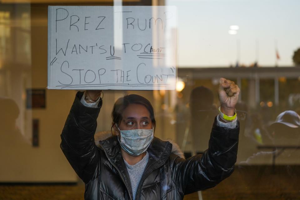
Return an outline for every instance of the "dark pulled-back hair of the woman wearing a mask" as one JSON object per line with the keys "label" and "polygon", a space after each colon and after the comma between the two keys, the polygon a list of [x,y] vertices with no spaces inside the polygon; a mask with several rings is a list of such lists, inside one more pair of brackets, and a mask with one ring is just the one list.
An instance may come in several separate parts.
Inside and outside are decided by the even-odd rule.
{"label": "dark pulled-back hair of the woman wearing a mask", "polygon": [[112,119],[113,119],[112,129],[113,129],[113,125],[115,124],[119,125],[121,123],[122,114],[124,110],[129,106],[129,104],[139,104],[147,108],[147,110],[150,113],[150,119],[153,125],[153,129],[155,131],[156,122],[154,118],[153,107],[151,103],[148,101],[148,99],[137,94],[129,94],[124,97],[118,98],[118,100],[113,106],[113,111],[112,111]]}

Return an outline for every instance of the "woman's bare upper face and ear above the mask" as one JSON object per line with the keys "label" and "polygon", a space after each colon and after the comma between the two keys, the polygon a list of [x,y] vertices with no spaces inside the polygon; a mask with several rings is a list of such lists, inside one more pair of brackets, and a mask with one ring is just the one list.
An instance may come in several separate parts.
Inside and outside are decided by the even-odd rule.
{"label": "woman's bare upper face and ear above the mask", "polygon": [[[140,104],[129,104],[123,112],[122,120],[118,127],[120,130],[153,128],[149,111]],[[116,126],[114,126],[114,130],[118,135],[119,131]]]}

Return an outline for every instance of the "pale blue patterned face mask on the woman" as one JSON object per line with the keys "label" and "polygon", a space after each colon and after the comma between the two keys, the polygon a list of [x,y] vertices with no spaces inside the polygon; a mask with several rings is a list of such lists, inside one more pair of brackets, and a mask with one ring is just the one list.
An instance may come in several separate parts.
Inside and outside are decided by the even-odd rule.
{"label": "pale blue patterned face mask on the woman", "polygon": [[[118,125],[116,124],[119,129]],[[154,132],[152,129],[133,129],[120,130],[118,137],[121,148],[129,155],[138,156],[144,153],[153,140]]]}

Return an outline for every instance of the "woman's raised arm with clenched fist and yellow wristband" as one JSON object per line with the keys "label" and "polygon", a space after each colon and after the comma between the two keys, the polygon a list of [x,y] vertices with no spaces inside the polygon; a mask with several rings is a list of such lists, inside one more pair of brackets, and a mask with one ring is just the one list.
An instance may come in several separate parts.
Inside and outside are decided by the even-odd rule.
{"label": "woman's raised arm with clenched fist and yellow wristband", "polygon": [[239,134],[235,112],[239,92],[240,89],[234,82],[220,78],[220,114],[214,120],[208,149],[203,155],[187,160],[173,158],[174,162],[170,166],[173,180],[183,194],[214,187],[233,172]]}

